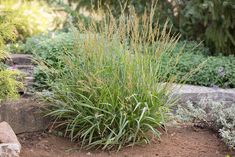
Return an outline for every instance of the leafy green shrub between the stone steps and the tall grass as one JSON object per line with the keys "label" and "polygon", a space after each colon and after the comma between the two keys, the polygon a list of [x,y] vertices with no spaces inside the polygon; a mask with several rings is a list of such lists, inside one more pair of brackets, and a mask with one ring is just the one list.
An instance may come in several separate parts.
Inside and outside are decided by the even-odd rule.
{"label": "leafy green shrub between the stone steps and the tall grass", "polygon": [[[62,69],[64,63],[63,54],[71,54],[74,49],[72,33],[52,32],[28,38],[24,44],[24,53],[33,54],[36,60],[42,61],[53,69]],[[49,87],[57,75],[56,71],[38,67],[34,71],[35,88],[45,89]]]}

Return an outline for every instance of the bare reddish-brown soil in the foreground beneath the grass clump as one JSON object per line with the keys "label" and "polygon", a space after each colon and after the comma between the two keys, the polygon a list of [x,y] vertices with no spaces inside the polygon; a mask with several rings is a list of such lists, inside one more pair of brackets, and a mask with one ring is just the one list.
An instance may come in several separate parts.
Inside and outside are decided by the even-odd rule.
{"label": "bare reddish-brown soil in the foreground beneath the grass clump", "polygon": [[207,129],[190,126],[168,128],[161,142],[124,148],[119,152],[79,151],[78,145],[53,135],[19,135],[21,157],[235,157],[217,135]]}

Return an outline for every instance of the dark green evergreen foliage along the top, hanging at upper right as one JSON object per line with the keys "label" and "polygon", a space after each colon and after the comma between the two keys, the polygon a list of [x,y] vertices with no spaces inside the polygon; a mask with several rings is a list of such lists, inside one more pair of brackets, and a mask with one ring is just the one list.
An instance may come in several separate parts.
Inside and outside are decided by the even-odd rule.
{"label": "dark green evergreen foliage along the top, hanging at upper right", "polygon": [[[151,10],[151,0],[69,0],[77,2],[77,10],[82,7],[111,11],[118,17],[122,11],[133,6],[139,15]],[[155,2],[155,1],[153,1]],[[126,7],[125,7],[126,6]],[[109,9],[107,9],[109,8]],[[235,1],[234,0],[158,0],[155,13],[164,26],[169,20],[169,29],[182,34],[186,40],[205,42],[211,54],[235,54]]]}

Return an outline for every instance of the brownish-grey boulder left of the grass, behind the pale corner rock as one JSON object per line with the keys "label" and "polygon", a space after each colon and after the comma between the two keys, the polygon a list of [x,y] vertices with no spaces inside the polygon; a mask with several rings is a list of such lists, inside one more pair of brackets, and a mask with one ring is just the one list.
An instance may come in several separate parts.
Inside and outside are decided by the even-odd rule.
{"label": "brownish-grey boulder left of the grass, behind the pale corner rock", "polygon": [[49,121],[41,114],[42,103],[32,98],[22,98],[0,104],[0,122],[8,122],[16,134],[40,131]]}

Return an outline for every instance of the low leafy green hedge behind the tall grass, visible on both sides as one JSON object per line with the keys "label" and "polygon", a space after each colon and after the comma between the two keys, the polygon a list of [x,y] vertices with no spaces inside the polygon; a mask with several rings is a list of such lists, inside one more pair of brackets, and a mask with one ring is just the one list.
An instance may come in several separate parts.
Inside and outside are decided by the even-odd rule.
{"label": "low leafy green hedge behind the tall grass, visible on both sides", "polygon": [[[186,80],[187,84],[218,86],[224,88],[235,88],[235,57],[233,56],[213,56],[208,57],[208,49],[195,42],[180,42],[174,50],[174,55],[180,52],[182,45],[185,45],[183,53],[180,55],[179,63],[173,69],[180,81],[190,71],[196,69],[205,62],[199,71]],[[61,55],[70,53],[74,48],[73,35],[71,33],[56,33],[54,35],[43,35],[29,38],[26,42],[27,52],[33,52],[35,56],[44,60],[49,66],[61,68]],[[163,58],[165,65],[168,58]],[[162,67],[164,73],[164,67]],[[52,72],[52,71],[51,71]],[[36,79],[39,83],[44,82],[48,74],[37,71]],[[167,79],[167,78],[166,78]],[[45,83],[45,82],[44,82]]]}

